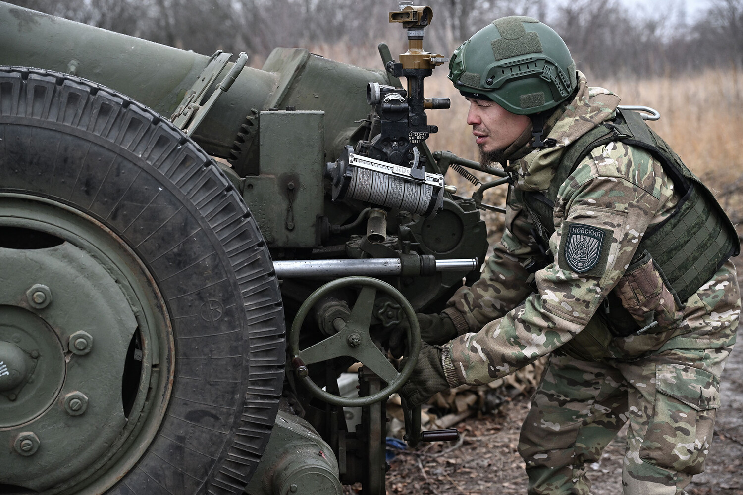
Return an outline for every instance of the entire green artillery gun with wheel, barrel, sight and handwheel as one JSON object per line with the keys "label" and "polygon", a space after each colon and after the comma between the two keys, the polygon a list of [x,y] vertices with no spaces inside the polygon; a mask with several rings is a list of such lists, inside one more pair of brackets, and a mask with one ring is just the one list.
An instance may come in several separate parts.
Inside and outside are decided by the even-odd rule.
{"label": "entire green artillery gun with wheel, barrel, sight and handwheel", "polygon": [[487,249],[444,181],[479,165],[425,142],[431,19],[383,70],[259,70],[0,3],[0,494],[385,493],[415,312]]}

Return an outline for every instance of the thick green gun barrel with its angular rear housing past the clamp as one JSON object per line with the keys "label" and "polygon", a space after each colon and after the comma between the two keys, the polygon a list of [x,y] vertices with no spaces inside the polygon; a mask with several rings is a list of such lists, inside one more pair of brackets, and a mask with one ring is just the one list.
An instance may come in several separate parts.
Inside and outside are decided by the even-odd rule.
{"label": "thick green gun barrel with its angular rear housing past the clamp", "polygon": [[[144,39],[49,16],[0,1],[0,65],[71,73],[108,86],[169,119],[207,68],[210,57]],[[232,62],[225,71],[230,71]],[[227,72],[225,72],[226,74]],[[389,83],[372,71],[311,55],[302,48],[276,48],[262,69],[244,67],[195,130],[204,151],[222,158],[252,110],[293,107],[324,111],[328,159],[369,113],[368,82]],[[216,91],[219,77],[209,94]],[[209,97],[207,94],[207,98]],[[342,96],[341,96],[342,95]],[[256,140],[257,141],[257,140]]]}

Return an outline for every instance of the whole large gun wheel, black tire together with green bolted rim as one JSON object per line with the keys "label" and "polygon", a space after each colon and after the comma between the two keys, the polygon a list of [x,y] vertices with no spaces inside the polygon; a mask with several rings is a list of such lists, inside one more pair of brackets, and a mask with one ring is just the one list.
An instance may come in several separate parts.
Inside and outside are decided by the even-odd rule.
{"label": "whole large gun wheel, black tire together with green bolted rim", "polygon": [[204,151],[82,79],[0,68],[0,493],[241,494],[284,321]]}

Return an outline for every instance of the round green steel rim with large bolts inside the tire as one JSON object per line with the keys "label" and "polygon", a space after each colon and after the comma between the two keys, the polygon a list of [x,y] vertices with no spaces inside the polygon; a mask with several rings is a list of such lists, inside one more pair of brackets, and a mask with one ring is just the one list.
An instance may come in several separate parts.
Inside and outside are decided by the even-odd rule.
{"label": "round green steel rim with large bolts inside the tire", "polygon": [[169,401],[174,343],[157,284],[102,223],[24,194],[0,195],[0,281],[0,439],[13,445],[0,482],[102,494]]}

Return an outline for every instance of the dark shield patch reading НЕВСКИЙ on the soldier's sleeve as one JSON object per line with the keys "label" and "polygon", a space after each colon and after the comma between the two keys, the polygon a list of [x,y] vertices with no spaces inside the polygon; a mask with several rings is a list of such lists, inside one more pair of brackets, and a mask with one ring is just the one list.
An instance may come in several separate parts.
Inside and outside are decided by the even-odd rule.
{"label": "dark shield patch reading \u041d\u0415\u0412\u0421\u041a\u0418\u0419 on the soldier's sleeve", "polygon": [[[599,275],[606,268],[611,246],[611,231],[584,223],[565,222],[559,246],[559,264],[577,273],[593,269]],[[566,228],[565,228],[566,227]]]}

